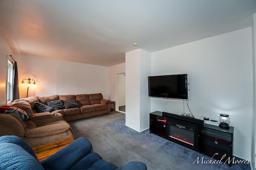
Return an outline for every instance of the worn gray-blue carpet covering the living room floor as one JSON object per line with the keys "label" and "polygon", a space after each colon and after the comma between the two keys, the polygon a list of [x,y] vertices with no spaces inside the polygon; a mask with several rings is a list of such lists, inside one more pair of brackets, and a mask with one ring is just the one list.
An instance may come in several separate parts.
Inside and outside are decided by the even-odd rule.
{"label": "worn gray-blue carpet covering the living room floor", "polygon": [[137,132],[125,126],[125,114],[117,111],[68,123],[74,139],[86,137],[92,143],[93,152],[118,168],[131,161],[141,161],[148,170],[250,170],[250,164],[233,164],[231,167],[223,163],[197,164],[198,157],[211,158],[150,134],[149,130]]}

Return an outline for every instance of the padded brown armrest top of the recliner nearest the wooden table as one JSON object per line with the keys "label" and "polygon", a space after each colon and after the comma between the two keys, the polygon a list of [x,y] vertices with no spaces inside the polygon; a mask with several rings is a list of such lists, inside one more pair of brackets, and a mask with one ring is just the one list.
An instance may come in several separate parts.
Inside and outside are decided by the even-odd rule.
{"label": "padded brown armrest top of the recliner nearest the wooden table", "polygon": [[26,131],[25,137],[36,138],[36,137],[45,137],[50,135],[59,134],[70,129],[68,123],[56,123],[52,125],[46,125],[41,127],[36,127]]}

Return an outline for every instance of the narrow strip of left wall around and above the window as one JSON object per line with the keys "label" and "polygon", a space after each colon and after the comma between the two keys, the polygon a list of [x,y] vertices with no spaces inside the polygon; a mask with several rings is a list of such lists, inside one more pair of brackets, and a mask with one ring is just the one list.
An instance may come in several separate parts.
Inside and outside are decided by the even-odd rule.
{"label": "narrow strip of left wall around and above the window", "polygon": [[6,105],[7,55],[14,57],[11,47],[0,32],[0,106]]}

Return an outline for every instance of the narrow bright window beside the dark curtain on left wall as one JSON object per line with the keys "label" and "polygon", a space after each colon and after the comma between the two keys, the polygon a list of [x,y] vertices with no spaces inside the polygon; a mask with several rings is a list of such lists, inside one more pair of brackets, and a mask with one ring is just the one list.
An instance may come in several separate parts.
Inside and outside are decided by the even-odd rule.
{"label": "narrow bright window beside the dark curtain on left wall", "polygon": [[13,89],[13,63],[8,60],[7,76],[6,76],[6,99],[7,104],[12,102],[12,89]]}

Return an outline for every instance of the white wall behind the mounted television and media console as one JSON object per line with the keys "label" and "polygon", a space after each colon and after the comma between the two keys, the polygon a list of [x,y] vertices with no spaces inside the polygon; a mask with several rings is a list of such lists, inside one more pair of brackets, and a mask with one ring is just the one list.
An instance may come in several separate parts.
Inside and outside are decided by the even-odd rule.
{"label": "white wall behind the mounted television and media console", "polygon": [[[251,159],[252,28],[202,39],[152,53],[152,75],[188,73],[188,105],[196,118],[230,115],[234,155]],[[151,111],[166,111],[166,99],[151,99]],[[186,105],[185,105],[186,106]],[[180,115],[182,100],[166,109]],[[186,107],[185,112],[188,113]]]}

